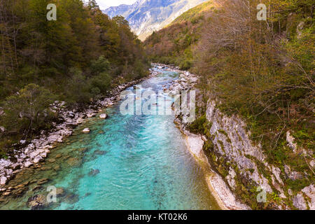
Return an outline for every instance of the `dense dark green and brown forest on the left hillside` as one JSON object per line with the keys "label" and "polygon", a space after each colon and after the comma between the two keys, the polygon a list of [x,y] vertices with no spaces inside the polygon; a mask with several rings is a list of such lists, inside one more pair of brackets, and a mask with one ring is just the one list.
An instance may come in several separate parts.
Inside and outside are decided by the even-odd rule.
{"label": "dense dark green and brown forest on the left hillside", "polygon": [[[55,21],[46,18],[49,3]],[[1,0],[0,21],[0,157],[50,128],[52,102],[85,106],[148,74],[128,22],[109,18],[94,0]]]}

